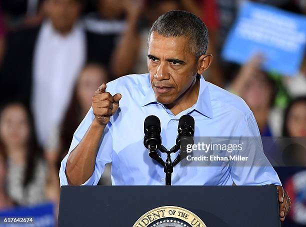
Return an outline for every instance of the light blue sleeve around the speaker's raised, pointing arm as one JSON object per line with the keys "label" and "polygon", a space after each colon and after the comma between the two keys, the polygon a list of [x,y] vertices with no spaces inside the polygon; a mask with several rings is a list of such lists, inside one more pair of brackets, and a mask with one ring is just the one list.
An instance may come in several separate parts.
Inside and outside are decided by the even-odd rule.
{"label": "light blue sleeve around the speaker's raised, pointing arm", "polygon": [[[77,144],[81,141],[82,137],[86,133],[93,119],[94,119],[94,114],[91,107],[87,112],[86,116],[84,117],[84,119],[82,120],[82,122],[77,127],[76,131],[74,132],[69,151],[61,161],[59,169],[60,186],[68,185],[68,180],[65,174],[68,156],[71,153],[71,151],[77,146]],[[105,164],[111,162],[111,152],[112,152],[112,132],[111,132],[111,122],[109,121],[103,131],[103,135],[101,136],[98,145],[94,171],[92,175],[89,177],[89,179],[87,179],[86,182],[84,182],[81,185],[96,185],[98,183],[101,174],[103,173]]]}

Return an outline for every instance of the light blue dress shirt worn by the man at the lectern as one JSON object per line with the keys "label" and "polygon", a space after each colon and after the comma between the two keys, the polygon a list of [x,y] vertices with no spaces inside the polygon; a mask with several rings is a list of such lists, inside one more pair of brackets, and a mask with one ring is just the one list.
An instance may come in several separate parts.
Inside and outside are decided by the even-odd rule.
{"label": "light blue dress shirt worn by the man at the lectern", "polygon": [[[112,162],[112,185],[164,185],[163,167],[148,156],[143,145],[143,122],[156,115],[161,123],[162,144],[175,144],[179,118],[190,114],[195,120],[194,136],[260,136],[255,118],[238,96],[200,77],[199,94],[190,108],[173,115],[158,103],[149,74],[132,74],[107,83],[106,91],[121,93],[119,109],[110,118],[101,137],[95,169],[83,185],[96,185],[104,165]],[[71,150],[80,142],[94,115],[92,107],[76,129],[68,154],[61,162],[60,185],[67,185],[65,167]],[[262,147],[262,146],[261,146]],[[258,158],[263,155],[258,150]],[[172,153],[172,160],[177,153]],[[166,154],[161,157],[165,160]],[[254,157],[256,158],[256,156]],[[181,166],[173,168],[172,185],[281,185],[272,166]]]}

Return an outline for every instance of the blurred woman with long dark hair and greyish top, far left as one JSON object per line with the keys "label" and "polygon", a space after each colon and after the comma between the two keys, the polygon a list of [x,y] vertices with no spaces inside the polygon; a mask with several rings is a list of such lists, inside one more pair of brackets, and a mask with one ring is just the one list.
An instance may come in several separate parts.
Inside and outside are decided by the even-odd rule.
{"label": "blurred woman with long dark hair and greyish top, far left", "polygon": [[46,199],[46,165],[38,147],[29,110],[12,102],[0,112],[0,141],[7,154],[7,192],[18,204]]}

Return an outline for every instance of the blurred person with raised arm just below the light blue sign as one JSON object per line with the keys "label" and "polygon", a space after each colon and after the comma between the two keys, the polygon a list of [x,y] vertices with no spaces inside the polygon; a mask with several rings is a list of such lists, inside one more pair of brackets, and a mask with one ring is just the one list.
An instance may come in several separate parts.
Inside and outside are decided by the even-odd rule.
{"label": "blurred person with raised arm just below the light blue sign", "polygon": [[271,136],[270,110],[276,94],[273,80],[260,69],[262,56],[253,56],[242,65],[229,90],[244,99],[252,110],[261,136]]}

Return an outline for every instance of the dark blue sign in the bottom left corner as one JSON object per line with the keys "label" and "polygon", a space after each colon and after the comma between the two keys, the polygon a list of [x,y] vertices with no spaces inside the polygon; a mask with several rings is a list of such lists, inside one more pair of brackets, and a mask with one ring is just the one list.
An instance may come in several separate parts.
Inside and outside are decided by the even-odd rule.
{"label": "dark blue sign in the bottom left corner", "polygon": [[[14,220],[12,217],[16,217],[16,219]],[[53,203],[47,202],[34,206],[19,206],[0,211],[0,227],[13,226],[54,227],[55,216]]]}

